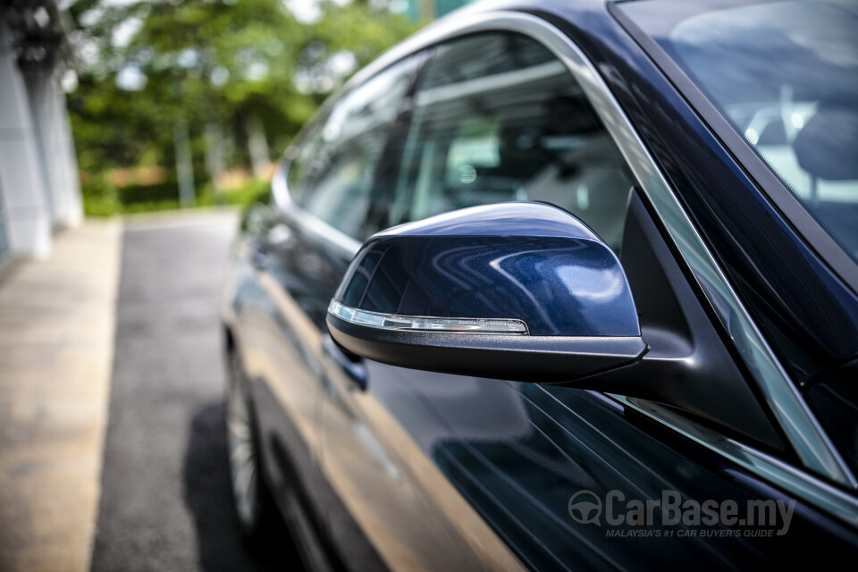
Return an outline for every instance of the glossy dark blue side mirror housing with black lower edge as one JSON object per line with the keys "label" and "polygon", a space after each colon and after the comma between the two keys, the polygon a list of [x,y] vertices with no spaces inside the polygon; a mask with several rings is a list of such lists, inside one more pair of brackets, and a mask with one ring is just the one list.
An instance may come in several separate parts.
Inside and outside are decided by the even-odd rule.
{"label": "glossy dark blue side mirror housing with black lower edge", "polygon": [[327,316],[344,349],[392,366],[566,383],[646,352],[617,256],[543,203],[475,206],[382,231]]}

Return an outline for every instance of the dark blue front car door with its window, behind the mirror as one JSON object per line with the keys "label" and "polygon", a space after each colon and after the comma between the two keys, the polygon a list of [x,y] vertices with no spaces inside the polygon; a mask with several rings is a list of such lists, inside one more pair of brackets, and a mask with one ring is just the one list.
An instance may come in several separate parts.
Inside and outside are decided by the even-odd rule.
{"label": "dark blue front car door with its window, behind the mirror", "polygon": [[854,545],[795,495],[824,486],[790,467],[666,232],[687,217],[676,201],[654,206],[670,191],[592,66],[529,16],[451,28],[421,72],[395,182],[379,189],[388,223],[509,200],[576,214],[618,253],[653,355],[686,365],[627,381],[673,375],[682,407],[408,370],[328,344],[323,472],[383,564],[777,568],[805,543]]}

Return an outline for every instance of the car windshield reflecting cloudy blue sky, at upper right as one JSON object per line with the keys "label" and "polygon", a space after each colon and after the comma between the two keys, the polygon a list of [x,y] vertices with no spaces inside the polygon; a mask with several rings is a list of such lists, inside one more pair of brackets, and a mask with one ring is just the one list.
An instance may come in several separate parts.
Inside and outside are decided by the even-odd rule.
{"label": "car windshield reflecting cloudy blue sky, at upper right", "polygon": [[653,38],[858,260],[858,3],[689,4]]}

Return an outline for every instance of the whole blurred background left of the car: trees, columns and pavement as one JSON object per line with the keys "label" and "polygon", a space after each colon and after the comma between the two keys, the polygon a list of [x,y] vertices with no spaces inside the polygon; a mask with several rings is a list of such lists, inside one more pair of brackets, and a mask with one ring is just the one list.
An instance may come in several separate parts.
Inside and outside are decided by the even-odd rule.
{"label": "whole blurred background left of the car: trees, columns and pavement", "polygon": [[462,4],[0,1],[0,572],[300,568],[231,512],[237,213],[326,97]]}

